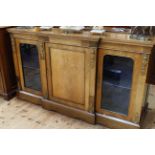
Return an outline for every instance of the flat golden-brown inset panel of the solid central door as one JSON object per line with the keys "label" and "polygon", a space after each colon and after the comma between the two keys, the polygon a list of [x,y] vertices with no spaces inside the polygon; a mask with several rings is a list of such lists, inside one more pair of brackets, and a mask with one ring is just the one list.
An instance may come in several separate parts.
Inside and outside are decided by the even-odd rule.
{"label": "flat golden-brown inset panel of the solid central door", "polygon": [[84,104],[84,53],[50,49],[53,96]]}

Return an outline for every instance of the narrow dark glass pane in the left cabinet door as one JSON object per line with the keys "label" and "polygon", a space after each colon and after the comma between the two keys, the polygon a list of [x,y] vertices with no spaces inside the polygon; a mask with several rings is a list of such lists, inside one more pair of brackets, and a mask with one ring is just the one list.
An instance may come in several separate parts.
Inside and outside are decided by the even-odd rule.
{"label": "narrow dark glass pane in the left cabinet door", "polygon": [[38,49],[36,45],[20,44],[25,87],[41,90]]}

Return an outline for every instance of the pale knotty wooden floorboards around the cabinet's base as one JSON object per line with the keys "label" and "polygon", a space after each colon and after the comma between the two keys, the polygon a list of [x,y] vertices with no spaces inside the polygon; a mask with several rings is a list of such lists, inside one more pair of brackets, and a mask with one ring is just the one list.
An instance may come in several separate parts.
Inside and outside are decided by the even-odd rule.
{"label": "pale knotty wooden floorboards around the cabinet's base", "polygon": [[[155,129],[155,110],[148,110],[143,128]],[[104,126],[88,124],[18,98],[5,101],[0,97],[1,129],[105,129]]]}

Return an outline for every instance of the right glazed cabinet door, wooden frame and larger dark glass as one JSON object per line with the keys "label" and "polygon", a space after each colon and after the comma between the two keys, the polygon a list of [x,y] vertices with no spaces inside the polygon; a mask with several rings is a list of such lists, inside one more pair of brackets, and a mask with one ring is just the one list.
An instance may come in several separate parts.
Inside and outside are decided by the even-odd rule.
{"label": "right glazed cabinet door, wooden frame and larger dark glass", "polygon": [[96,112],[134,120],[141,56],[99,50]]}

